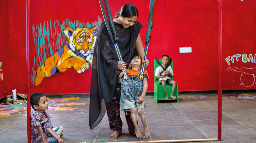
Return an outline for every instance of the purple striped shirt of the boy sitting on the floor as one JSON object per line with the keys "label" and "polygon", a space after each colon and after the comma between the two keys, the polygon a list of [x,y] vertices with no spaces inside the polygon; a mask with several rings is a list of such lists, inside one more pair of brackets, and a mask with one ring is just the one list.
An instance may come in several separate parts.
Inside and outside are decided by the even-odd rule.
{"label": "purple striped shirt of the boy sitting on the floor", "polygon": [[[51,136],[51,135],[49,133],[48,128],[53,128],[53,126],[52,126],[52,122],[50,120],[50,115],[46,111],[44,111],[44,114],[45,114],[45,120],[43,120],[43,114],[41,112],[39,112],[38,110],[32,110],[30,112],[31,142],[32,143],[43,143],[40,133],[37,129],[37,126],[41,126],[43,128],[45,139],[47,140],[48,143],[50,142],[49,136]],[[42,123],[44,123],[44,125]]]}

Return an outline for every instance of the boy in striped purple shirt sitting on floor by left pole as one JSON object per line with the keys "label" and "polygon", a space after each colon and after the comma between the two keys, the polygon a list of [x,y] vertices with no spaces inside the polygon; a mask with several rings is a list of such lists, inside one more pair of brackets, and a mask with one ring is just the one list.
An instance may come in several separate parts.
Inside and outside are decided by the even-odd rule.
{"label": "boy in striped purple shirt sitting on floor by left pole", "polygon": [[48,110],[48,101],[44,93],[33,93],[30,98],[31,106],[31,142],[32,143],[65,143],[61,139],[63,127],[53,128]]}

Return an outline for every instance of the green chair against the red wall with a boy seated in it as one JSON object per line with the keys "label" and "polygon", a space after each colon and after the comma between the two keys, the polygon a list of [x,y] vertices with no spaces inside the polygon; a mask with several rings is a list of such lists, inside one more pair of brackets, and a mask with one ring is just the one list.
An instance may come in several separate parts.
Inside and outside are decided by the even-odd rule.
{"label": "green chair against the red wall with a boy seated in it", "polygon": [[[173,60],[172,60],[173,61]],[[161,62],[161,59],[159,59],[159,62]],[[154,60],[154,75],[156,74],[156,68],[159,67],[160,65],[157,63],[156,59]],[[172,62],[170,64],[171,68],[172,68]],[[172,68],[173,69],[173,68]],[[163,86],[159,84],[159,79],[156,81],[156,76],[154,78],[155,83],[154,83],[154,100],[156,101],[156,103],[158,102],[164,102],[164,101],[177,101],[177,103],[179,102],[179,92],[178,92],[178,85],[176,86],[173,96],[176,96],[176,99],[170,99],[170,94],[172,93],[172,85],[166,85],[166,92],[168,94],[168,98],[169,99],[164,99],[165,98],[165,93],[164,93],[164,89]]]}

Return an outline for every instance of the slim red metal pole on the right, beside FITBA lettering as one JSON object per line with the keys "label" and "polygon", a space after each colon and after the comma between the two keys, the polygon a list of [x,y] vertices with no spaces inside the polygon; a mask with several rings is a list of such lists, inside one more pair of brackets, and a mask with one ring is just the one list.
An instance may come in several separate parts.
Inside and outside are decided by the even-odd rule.
{"label": "slim red metal pole on the right, beside FITBA lettering", "polygon": [[222,100],[222,0],[219,0],[219,88],[218,88],[218,140],[221,141],[221,100]]}

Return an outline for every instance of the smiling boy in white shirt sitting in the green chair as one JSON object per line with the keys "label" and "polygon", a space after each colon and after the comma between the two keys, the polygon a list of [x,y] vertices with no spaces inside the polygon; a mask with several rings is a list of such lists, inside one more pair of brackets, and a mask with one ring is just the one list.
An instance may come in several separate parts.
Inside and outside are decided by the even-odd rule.
{"label": "smiling boy in white shirt sitting in the green chair", "polygon": [[[162,59],[161,59],[161,62],[162,62],[162,65],[165,68],[167,66],[167,64],[169,63],[169,56],[168,55],[163,55]],[[173,77],[172,68],[171,68],[171,66],[169,66],[169,67],[167,67],[166,71],[163,71],[163,70],[164,69],[161,66],[157,67],[155,76],[156,76],[156,78],[159,78],[159,84],[163,85],[164,93],[165,93],[165,98],[164,99],[168,99],[168,95],[166,93],[166,84],[167,85],[172,85],[172,93],[170,95],[170,98],[176,99],[176,97],[172,95],[174,93],[174,90],[175,90],[176,85],[177,85],[176,81],[172,80],[172,77]]]}

